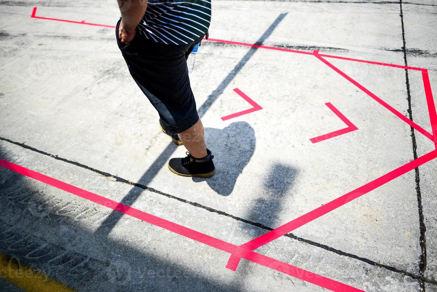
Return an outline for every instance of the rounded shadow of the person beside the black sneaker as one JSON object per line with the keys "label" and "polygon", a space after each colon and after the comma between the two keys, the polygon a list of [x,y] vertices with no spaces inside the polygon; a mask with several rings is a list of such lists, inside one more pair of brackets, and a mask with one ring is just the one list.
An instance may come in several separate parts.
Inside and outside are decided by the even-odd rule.
{"label": "rounded shadow of the person beside the black sneaker", "polygon": [[230,195],[255,151],[255,131],[246,122],[233,122],[225,129],[205,128],[205,141],[215,154],[217,171],[211,178],[193,177],[193,181],[206,181],[217,194]]}

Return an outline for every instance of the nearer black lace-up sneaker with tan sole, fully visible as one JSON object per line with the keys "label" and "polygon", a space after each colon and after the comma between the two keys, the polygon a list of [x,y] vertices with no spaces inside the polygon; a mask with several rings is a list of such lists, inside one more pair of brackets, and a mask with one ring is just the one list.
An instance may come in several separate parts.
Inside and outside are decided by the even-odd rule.
{"label": "nearer black lace-up sneaker with tan sole, fully visible", "polygon": [[208,156],[205,158],[194,158],[189,152],[187,157],[172,158],[168,163],[171,172],[183,177],[212,177],[215,174],[215,167],[212,159],[214,155],[206,149]]}

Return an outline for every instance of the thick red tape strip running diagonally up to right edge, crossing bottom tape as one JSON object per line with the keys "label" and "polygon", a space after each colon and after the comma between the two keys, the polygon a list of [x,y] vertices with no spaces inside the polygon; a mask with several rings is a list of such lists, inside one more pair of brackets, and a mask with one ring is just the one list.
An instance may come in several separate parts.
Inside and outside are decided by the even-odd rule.
{"label": "thick red tape strip running diagonally up to right edge, crossing bottom tape", "polygon": [[[399,177],[402,174],[406,174],[410,170],[413,170],[416,167],[422,165],[423,163],[427,163],[428,161],[433,160],[436,157],[437,157],[436,151],[431,151],[430,153],[420,156],[417,159],[409,163],[406,163],[405,165],[402,165],[401,167],[398,167],[387,174],[384,174],[382,177],[379,177],[367,184],[364,184],[363,186],[355,189],[354,191],[350,191],[347,194],[342,195],[341,197],[336,198],[333,201],[326,203],[317,209],[314,209],[288,223],[285,223],[282,226],[277,227],[276,229],[273,229],[261,236],[258,236],[257,238],[254,238],[253,240],[250,240],[249,242],[244,243],[240,247],[244,247],[249,250],[255,250],[258,247],[261,247],[264,244],[267,244],[281,236],[284,236],[285,234],[290,233],[294,229],[302,225],[305,225],[306,223],[311,222],[312,220],[315,220],[320,216],[323,216],[326,213],[329,213],[337,209],[338,207],[341,207],[344,204],[347,204],[348,202],[361,197],[364,194],[367,194],[369,191],[373,191],[375,188],[378,188],[383,184],[394,180],[396,177]],[[239,261],[240,261],[239,256],[231,255],[228,264],[226,265],[226,268],[235,271]]]}

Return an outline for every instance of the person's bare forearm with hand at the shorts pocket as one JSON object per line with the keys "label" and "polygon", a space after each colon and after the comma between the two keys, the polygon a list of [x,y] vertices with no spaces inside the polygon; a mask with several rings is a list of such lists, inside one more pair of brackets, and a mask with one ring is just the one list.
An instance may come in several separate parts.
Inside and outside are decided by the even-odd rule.
{"label": "person's bare forearm with hand at the shorts pocket", "polygon": [[135,37],[136,27],[146,13],[147,0],[117,0],[121,12],[118,37],[128,44]]}

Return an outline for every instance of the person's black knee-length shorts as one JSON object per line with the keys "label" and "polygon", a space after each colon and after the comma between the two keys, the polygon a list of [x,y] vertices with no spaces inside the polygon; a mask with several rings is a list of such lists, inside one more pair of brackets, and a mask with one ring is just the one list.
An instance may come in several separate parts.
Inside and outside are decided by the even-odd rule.
{"label": "person's black knee-length shorts", "polygon": [[158,111],[166,133],[174,135],[191,128],[199,115],[186,60],[203,36],[187,45],[166,45],[149,40],[137,29],[132,42],[124,45],[118,38],[120,21],[115,28],[118,48],[133,79]]}

